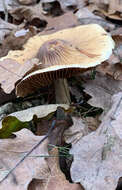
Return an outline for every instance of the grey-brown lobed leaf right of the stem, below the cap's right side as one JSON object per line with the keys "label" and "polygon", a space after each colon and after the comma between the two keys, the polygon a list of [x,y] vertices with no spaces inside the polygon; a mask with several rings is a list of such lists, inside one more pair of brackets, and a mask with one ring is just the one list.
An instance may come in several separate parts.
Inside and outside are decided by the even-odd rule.
{"label": "grey-brown lobed leaf right of the stem, below the cap's right side", "polygon": [[85,92],[91,96],[88,101],[95,107],[101,107],[106,113],[111,105],[111,96],[122,91],[122,81],[114,80],[112,77],[97,72],[94,80],[89,74],[84,74]]}

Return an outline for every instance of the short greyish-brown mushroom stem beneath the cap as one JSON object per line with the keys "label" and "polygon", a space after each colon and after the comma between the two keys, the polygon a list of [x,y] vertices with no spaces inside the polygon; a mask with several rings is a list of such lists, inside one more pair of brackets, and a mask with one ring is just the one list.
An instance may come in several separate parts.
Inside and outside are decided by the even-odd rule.
{"label": "short greyish-brown mushroom stem beneath the cap", "polygon": [[71,104],[67,79],[57,79],[55,82],[55,96],[57,104]]}

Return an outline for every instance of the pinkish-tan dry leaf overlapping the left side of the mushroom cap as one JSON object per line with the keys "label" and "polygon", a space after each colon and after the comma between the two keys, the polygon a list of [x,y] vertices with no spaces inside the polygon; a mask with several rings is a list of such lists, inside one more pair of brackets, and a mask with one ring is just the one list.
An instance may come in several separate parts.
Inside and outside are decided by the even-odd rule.
{"label": "pinkish-tan dry leaf overlapping the left side of the mushroom cap", "polygon": [[[20,62],[21,63],[21,62]],[[0,105],[16,99],[15,83],[38,63],[32,59],[21,65],[14,59],[0,59]]]}

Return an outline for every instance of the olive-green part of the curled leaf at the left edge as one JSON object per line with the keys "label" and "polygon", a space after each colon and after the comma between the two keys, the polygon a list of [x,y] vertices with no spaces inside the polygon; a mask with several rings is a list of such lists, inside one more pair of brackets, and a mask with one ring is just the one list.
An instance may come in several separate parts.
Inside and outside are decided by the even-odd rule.
{"label": "olive-green part of the curled leaf at the left edge", "polygon": [[14,136],[13,132],[17,132],[23,128],[29,128],[29,122],[22,122],[14,116],[7,116],[2,121],[2,128],[0,129],[0,138],[9,138]]}

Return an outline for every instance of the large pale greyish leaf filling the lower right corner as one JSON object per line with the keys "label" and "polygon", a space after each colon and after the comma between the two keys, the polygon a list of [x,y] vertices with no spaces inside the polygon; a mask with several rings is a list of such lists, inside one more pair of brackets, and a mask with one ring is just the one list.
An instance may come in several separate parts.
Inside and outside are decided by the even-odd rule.
{"label": "large pale greyish leaf filling the lower right corner", "polygon": [[71,177],[85,190],[116,189],[122,176],[122,92],[112,98],[111,109],[96,132],[72,144]]}

